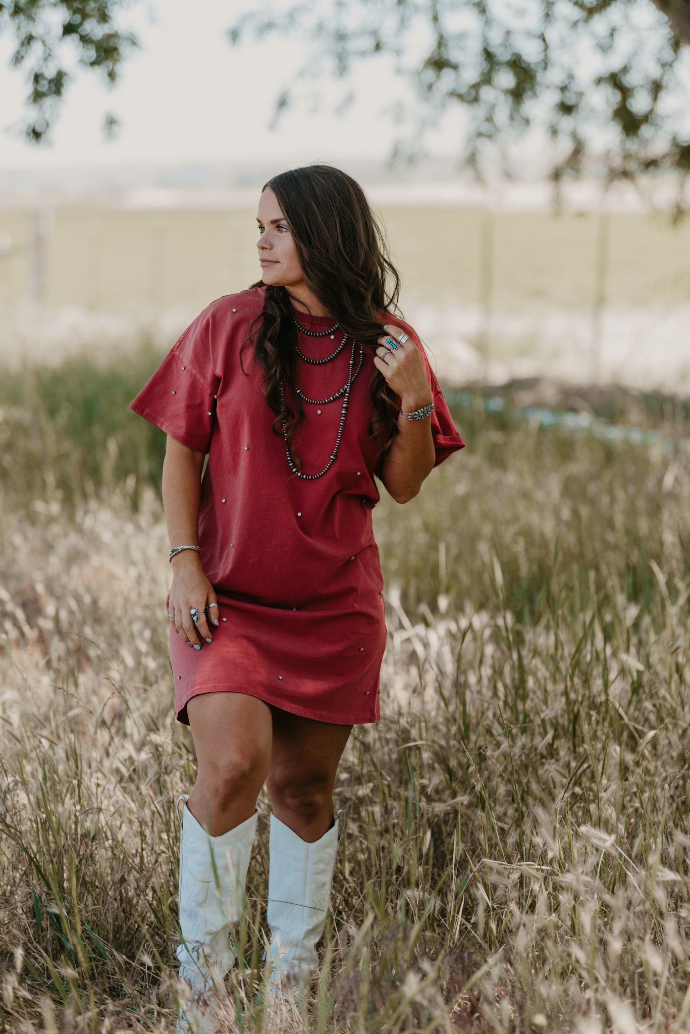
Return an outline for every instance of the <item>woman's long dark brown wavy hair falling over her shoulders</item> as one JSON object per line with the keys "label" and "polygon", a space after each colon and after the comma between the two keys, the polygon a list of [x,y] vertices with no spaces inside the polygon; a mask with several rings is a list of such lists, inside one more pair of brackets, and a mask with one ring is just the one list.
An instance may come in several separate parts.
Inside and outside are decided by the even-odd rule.
{"label": "woman's long dark brown wavy hair falling over her shoulders", "polygon": [[[279,173],[264,184],[263,190],[267,187],[286,217],[309,291],[343,334],[373,352],[378,338],[385,333],[380,314],[395,311],[402,318],[397,306],[400,277],[391,262],[384,231],[359,183],[339,169],[319,164]],[[262,287],[264,281],[258,280],[251,286]],[[297,340],[288,290],[267,284],[263,311],[252,321],[242,347],[253,343],[254,356],[264,371],[264,396],[276,415],[273,433],[282,435],[284,421],[288,445],[301,470],[302,462],[292,449],[295,430],[304,419],[295,391]],[[286,385],[296,413],[284,400]],[[398,408],[397,396],[380,370],[371,377],[369,398],[376,410],[369,434],[382,444],[384,455],[398,431]]]}

